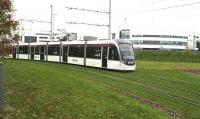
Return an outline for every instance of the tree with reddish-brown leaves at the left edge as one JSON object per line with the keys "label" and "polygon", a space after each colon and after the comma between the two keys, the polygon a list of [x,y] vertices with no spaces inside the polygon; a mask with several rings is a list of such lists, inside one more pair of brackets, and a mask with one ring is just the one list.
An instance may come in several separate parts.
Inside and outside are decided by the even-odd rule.
{"label": "tree with reddish-brown leaves at the left edge", "polygon": [[12,1],[0,0],[0,60],[12,53],[13,44],[20,38],[18,21],[13,19],[13,14]]}

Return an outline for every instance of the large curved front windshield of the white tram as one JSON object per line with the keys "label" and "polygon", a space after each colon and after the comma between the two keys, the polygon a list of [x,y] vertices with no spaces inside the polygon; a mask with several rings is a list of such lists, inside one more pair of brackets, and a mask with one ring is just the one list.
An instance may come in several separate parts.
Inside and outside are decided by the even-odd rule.
{"label": "large curved front windshield of the white tram", "polygon": [[131,44],[119,44],[122,60],[134,60],[134,51]]}

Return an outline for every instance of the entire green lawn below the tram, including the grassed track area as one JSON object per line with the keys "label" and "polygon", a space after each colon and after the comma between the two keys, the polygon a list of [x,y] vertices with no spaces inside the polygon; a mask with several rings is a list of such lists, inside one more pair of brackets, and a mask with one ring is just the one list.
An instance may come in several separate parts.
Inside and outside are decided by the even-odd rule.
{"label": "entire green lawn below the tram, including the grassed track area", "polygon": [[185,70],[200,70],[200,64],[138,61],[136,72],[116,72],[8,60],[2,114],[19,119],[173,118],[131,96],[136,95],[184,117],[199,118],[200,106],[167,96],[200,104],[200,74]]}

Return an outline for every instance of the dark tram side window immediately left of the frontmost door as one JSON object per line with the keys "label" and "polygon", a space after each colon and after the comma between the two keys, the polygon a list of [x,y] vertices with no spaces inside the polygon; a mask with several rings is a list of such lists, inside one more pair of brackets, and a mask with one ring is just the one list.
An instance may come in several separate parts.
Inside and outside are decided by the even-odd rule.
{"label": "dark tram side window immediately left of the frontmost door", "polygon": [[101,59],[101,47],[87,47],[86,57]]}

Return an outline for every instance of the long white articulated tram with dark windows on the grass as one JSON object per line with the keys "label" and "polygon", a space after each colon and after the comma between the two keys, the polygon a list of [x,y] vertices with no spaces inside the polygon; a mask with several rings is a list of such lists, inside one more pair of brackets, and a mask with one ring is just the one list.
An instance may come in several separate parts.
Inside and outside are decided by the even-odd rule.
{"label": "long white articulated tram with dark windows on the grass", "polygon": [[20,43],[15,45],[11,57],[121,71],[136,68],[133,46],[127,40]]}

